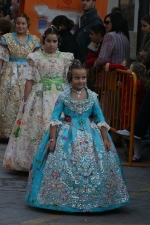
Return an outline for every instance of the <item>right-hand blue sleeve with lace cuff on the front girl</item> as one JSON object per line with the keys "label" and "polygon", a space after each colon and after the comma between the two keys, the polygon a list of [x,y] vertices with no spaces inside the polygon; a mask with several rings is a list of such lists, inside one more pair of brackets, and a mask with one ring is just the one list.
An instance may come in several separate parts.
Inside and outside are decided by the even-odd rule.
{"label": "right-hand blue sleeve with lace cuff on the front girl", "polygon": [[99,129],[101,129],[101,127],[106,127],[107,130],[110,129],[110,126],[105,121],[98,99],[96,99],[92,107],[92,115],[93,115],[94,122],[97,124],[97,127]]}

